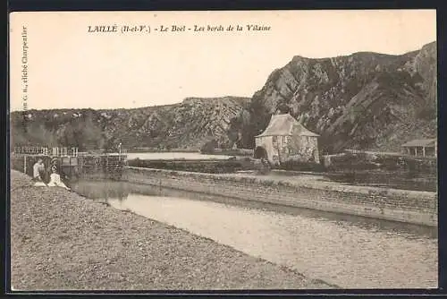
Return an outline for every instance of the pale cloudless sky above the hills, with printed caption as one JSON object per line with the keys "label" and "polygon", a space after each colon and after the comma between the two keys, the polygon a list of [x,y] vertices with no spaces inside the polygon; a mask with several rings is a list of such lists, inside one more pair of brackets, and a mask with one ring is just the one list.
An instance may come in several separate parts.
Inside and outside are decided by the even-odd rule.
{"label": "pale cloudless sky above the hills, with printed caption", "polygon": [[[247,30],[249,24],[270,30]],[[100,25],[116,25],[118,32],[89,32]],[[121,32],[140,25],[150,32]],[[173,25],[186,30],[160,31]],[[205,31],[194,31],[195,25]],[[208,25],[234,30],[207,31]],[[251,97],[293,56],[401,55],[434,40],[434,10],[13,13],[10,108],[22,110],[25,102],[28,109],[132,108],[187,97]]]}

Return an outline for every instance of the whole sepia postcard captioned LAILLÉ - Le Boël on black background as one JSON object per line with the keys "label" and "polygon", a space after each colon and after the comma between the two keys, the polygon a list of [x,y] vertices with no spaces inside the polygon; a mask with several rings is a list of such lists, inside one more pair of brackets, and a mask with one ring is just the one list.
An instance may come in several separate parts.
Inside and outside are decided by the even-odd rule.
{"label": "whole sepia postcard captioned LAILL\u00c9 - Le Bo\u00ebl on black background", "polygon": [[11,288],[438,287],[434,10],[10,14]]}

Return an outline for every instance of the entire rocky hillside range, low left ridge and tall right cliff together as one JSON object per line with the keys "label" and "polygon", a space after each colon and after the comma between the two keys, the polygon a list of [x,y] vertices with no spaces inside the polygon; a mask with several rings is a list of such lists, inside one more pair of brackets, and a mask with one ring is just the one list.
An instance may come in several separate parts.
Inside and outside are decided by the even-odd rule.
{"label": "entire rocky hillside range, low left ridge and tall right cliff together", "polygon": [[321,135],[324,152],[398,150],[436,136],[436,44],[401,56],[361,52],[295,56],[250,98],[186,98],[118,110],[30,110],[12,115],[12,145],[66,144],[80,149],[253,148],[272,114],[289,112]]}

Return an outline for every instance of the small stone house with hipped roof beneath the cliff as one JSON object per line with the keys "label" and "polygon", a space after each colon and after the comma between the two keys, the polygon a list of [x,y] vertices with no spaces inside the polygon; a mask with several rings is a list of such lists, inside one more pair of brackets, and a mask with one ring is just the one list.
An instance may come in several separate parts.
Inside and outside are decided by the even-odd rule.
{"label": "small stone house with hipped roof beneath the cliff", "polygon": [[319,163],[318,137],[290,114],[272,115],[266,130],[255,137],[254,158],[276,165],[290,160]]}

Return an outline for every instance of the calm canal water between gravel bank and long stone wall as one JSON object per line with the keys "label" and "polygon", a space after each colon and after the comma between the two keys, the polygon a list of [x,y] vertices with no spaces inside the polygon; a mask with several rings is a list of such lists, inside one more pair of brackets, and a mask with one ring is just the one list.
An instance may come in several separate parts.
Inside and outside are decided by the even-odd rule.
{"label": "calm canal water between gravel bank and long stone wall", "polygon": [[80,183],[73,189],[309,278],[342,288],[437,287],[434,228],[148,185],[98,184]]}

